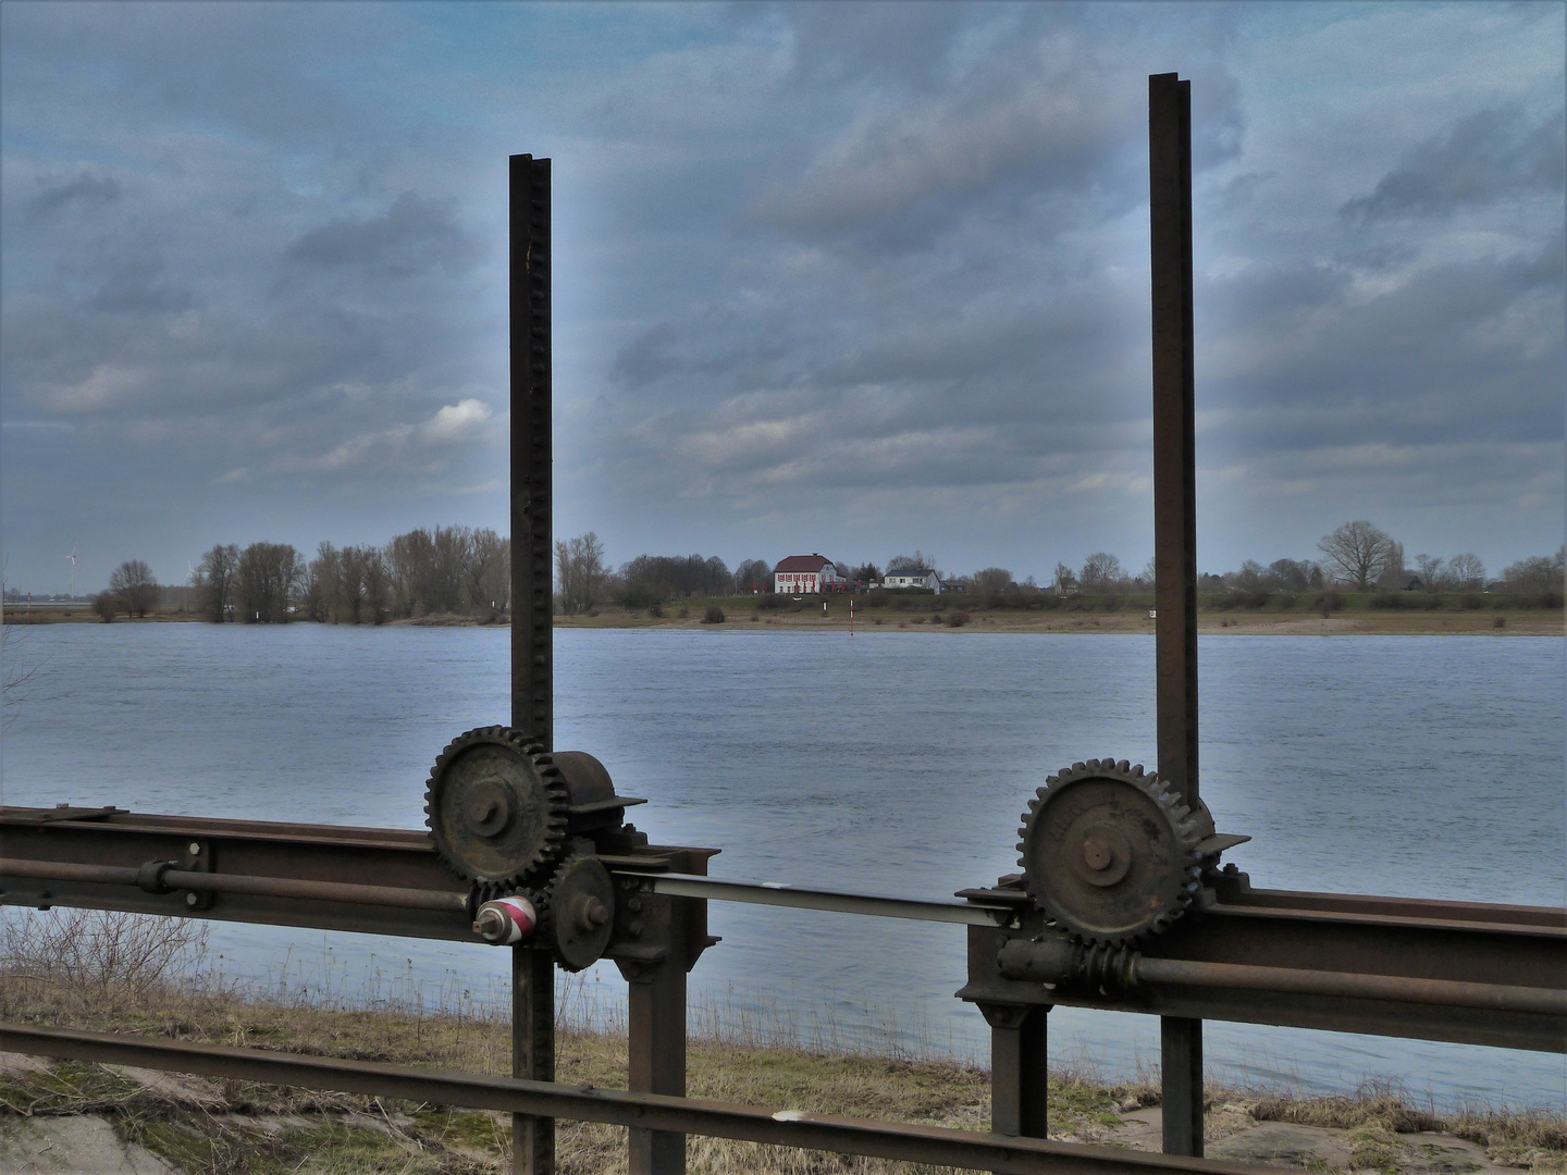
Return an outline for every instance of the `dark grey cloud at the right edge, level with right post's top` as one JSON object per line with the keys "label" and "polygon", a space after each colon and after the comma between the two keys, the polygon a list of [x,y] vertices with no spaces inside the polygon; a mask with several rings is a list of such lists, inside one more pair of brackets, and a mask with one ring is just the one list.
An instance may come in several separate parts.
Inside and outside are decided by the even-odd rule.
{"label": "dark grey cloud at the right edge, level with right post's top", "polygon": [[1377,180],[1370,196],[1338,212],[1368,222],[1445,216],[1495,201],[1562,191],[1564,119],[1536,125],[1518,110],[1479,110],[1426,139]]}

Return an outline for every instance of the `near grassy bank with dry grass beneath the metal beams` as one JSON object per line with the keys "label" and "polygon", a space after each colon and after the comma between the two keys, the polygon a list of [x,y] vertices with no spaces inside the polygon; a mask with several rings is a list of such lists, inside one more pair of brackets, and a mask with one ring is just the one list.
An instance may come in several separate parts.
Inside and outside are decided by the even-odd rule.
{"label": "near grassy bank with dry grass beneath the metal beams", "polygon": [[[342,998],[323,1004],[287,992],[246,996],[193,967],[201,937],[190,923],[116,916],[110,927],[94,923],[97,915],[66,918],[78,920],[75,937],[85,949],[61,951],[58,931],[42,921],[30,920],[24,931],[13,923],[8,953],[0,957],[0,1018],[440,1070],[509,1072],[509,1025],[492,1010],[418,1014],[411,1007],[356,1007]],[[127,924],[141,927],[136,934],[144,949],[127,948]],[[171,926],[185,929],[166,929]],[[102,927],[110,929],[105,934]],[[779,1043],[755,1023],[726,1026],[713,1009],[705,1012],[693,1017],[693,1097],[989,1128],[989,1079],[979,1068],[874,1051],[807,1051]],[[624,1087],[625,1072],[622,1032],[566,1017],[558,1034],[559,1081]],[[1470,1108],[1439,1115],[1388,1089],[1308,1098],[1288,1090],[1210,1087],[1207,1100],[1211,1155],[1384,1175],[1567,1170],[1567,1120],[1561,1114]],[[1083,1070],[1050,1078],[1051,1137],[1156,1150],[1156,1106],[1152,1078],[1102,1083]],[[505,1170],[509,1148],[506,1120],[489,1112],[0,1056],[0,1155],[8,1141],[19,1145],[17,1139],[39,1123],[69,1115],[105,1119],[119,1139],[146,1147],[180,1172],[456,1175]],[[559,1123],[563,1172],[621,1172],[624,1145],[617,1128]],[[760,1175],[931,1170],[694,1137],[689,1169]]]}

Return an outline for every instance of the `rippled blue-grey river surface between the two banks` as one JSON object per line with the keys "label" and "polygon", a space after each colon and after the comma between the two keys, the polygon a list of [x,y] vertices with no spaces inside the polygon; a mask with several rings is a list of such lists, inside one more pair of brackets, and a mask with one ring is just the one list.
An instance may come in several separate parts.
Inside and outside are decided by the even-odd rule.
{"label": "rippled blue-grey river surface between the two banks", "polygon": [[[13,630],[16,631],[16,630]],[[422,827],[429,763],[508,718],[505,630],[56,625],[6,714],[5,804]],[[721,846],[716,876],[943,898],[1015,870],[1019,813],[1073,760],[1153,765],[1150,636],[556,633],[556,746],[605,761],[653,843]],[[1202,794],[1254,885],[1562,906],[1558,638],[1200,641]],[[715,902],[704,1015],[804,1039],[986,1061],[953,1000],[953,926]],[[426,1004],[503,990],[503,953],[213,924],[229,974]],[[577,996],[613,1007],[600,965]],[[1158,1062],[1150,1017],[1056,1009],[1051,1058]],[[1442,1104],[1567,1106],[1567,1061],[1213,1023],[1210,1070],[1340,1090],[1391,1079]]]}

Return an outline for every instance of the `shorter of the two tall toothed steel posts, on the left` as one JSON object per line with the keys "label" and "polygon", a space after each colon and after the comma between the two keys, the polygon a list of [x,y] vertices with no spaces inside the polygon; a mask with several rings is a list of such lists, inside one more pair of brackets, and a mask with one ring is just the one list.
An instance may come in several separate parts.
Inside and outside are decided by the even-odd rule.
{"label": "shorter of the two tall toothed steel posts, on the left", "polygon": [[[550,161],[511,157],[511,724],[553,749]],[[555,1079],[555,967],[512,948],[512,1075]],[[555,1122],[512,1115],[516,1175],[553,1175]]]}

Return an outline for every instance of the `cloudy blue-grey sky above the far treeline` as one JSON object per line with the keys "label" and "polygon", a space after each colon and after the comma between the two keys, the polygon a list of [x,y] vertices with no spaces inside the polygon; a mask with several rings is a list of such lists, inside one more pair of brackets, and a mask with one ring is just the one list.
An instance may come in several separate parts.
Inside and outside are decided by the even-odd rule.
{"label": "cloudy blue-grey sky above the far treeline", "polygon": [[1564,8],[0,8],[6,583],[506,526],[553,158],[556,533],[1152,555],[1147,75],[1192,83],[1199,559],[1562,542]]}

